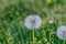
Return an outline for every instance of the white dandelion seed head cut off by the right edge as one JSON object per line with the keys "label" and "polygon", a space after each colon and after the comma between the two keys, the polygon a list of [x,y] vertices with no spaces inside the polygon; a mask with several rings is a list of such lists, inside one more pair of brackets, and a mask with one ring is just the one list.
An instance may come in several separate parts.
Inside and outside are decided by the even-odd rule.
{"label": "white dandelion seed head cut off by the right edge", "polygon": [[66,26],[62,25],[57,29],[57,36],[62,40],[66,40]]}

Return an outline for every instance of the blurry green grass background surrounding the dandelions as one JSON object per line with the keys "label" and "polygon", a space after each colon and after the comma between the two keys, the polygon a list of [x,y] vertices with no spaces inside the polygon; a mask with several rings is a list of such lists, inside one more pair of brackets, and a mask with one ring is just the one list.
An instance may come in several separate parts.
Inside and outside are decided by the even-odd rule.
{"label": "blurry green grass background surrounding the dandelions", "polygon": [[66,0],[0,0],[0,44],[32,44],[32,30],[24,26],[30,14],[38,14],[43,21],[35,30],[35,44],[48,44],[50,32],[51,44],[63,44],[56,30],[66,25]]}

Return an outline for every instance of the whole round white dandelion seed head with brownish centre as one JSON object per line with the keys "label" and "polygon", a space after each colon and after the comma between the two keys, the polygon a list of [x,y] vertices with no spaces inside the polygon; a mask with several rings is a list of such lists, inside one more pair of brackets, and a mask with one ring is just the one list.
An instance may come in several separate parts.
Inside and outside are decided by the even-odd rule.
{"label": "whole round white dandelion seed head with brownish centre", "polygon": [[38,29],[41,26],[42,19],[40,15],[29,15],[25,18],[24,25],[28,29]]}

